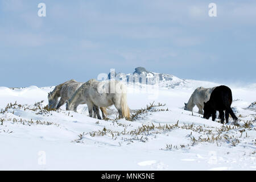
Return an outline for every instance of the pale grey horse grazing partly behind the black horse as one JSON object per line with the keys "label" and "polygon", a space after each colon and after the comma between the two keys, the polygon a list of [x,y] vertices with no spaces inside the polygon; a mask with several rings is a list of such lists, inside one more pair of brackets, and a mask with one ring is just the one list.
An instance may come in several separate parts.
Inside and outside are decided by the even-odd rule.
{"label": "pale grey horse grazing partly behind the black horse", "polygon": [[203,108],[204,108],[204,102],[209,101],[210,99],[210,94],[212,93],[212,91],[216,88],[203,88],[203,87],[199,87],[197,89],[195,89],[195,91],[192,93],[191,97],[188,100],[188,103],[184,103],[185,107],[184,110],[189,110],[192,111],[193,107],[195,107],[195,105],[199,108],[199,114],[204,114],[203,112]]}

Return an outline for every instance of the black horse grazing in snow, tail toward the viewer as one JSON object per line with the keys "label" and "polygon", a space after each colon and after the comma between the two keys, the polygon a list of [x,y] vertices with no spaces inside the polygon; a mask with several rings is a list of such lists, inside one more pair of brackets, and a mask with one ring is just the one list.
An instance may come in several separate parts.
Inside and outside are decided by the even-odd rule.
{"label": "black horse grazing in snow, tail toward the viewer", "polygon": [[229,114],[236,122],[237,117],[231,109],[232,92],[228,86],[217,86],[210,94],[210,100],[204,102],[204,118],[209,119],[212,116],[212,121],[216,119],[216,111],[220,113],[221,123],[224,123],[224,110],[226,123],[229,122]]}

